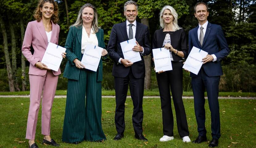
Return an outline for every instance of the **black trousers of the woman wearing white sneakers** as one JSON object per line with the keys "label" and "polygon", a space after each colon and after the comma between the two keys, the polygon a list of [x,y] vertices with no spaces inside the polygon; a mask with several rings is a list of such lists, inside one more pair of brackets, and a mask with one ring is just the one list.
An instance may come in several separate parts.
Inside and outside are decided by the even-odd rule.
{"label": "black trousers of the woman wearing white sneakers", "polygon": [[[171,109],[171,94],[175,107],[176,121],[178,132],[180,137],[188,136],[188,122],[186,118],[186,113],[184,109],[184,104],[182,101],[182,62],[172,63],[172,69],[161,74],[156,73],[160,99],[161,108],[163,116],[163,134],[167,136],[173,136],[173,114]],[[171,94],[170,94],[171,87]]]}

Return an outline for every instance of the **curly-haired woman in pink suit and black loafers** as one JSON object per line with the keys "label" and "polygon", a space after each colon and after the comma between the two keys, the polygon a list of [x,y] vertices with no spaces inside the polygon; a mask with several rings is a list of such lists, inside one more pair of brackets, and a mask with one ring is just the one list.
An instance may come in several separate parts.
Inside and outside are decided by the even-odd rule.
{"label": "curly-haired woman in pink suit and black loafers", "polygon": [[[27,119],[26,139],[29,148],[38,148],[35,143],[35,130],[38,117],[38,110],[42,97],[42,144],[60,146],[50,137],[50,123],[52,102],[55,96],[58,82],[58,71],[52,71],[41,62],[44,52],[49,42],[58,44],[60,26],[57,24],[58,5],[54,0],[40,0],[35,10],[35,21],[27,24],[24,36],[22,53],[30,62],[29,82],[30,82],[30,106]],[[34,54],[30,47],[33,46]],[[65,54],[62,57],[65,58]]]}

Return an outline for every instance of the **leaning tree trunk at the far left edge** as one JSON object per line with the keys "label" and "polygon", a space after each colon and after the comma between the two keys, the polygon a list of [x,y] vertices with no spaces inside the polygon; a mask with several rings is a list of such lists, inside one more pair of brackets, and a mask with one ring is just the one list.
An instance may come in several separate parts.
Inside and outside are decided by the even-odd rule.
{"label": "leaning tree trunk at the far left edge", "polygon": [[10,89],[10,91],[15,91],[14,80],[13,80],[13,75],[12,75],[13,72],[12,72],[12,68],[11,68],[11,62],[10,62],[8,44],[7,44],[8,43],[7,42],[7,33],[6,33],[4,20],[3,20],[1,14],[0,14],[0,24],[1,24],[2,34],[3,34],[3,49],[4,49],[4,56],[5,56],[5,61],[6,61],[7,74],[8,74],[9,89]]}

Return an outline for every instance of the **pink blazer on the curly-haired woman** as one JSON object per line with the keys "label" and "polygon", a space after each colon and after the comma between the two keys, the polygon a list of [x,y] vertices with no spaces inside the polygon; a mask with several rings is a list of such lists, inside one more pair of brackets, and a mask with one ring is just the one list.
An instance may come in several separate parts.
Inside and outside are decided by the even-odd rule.
{"label": "pink blazer on the curly-haired woman", "polygon": [[[50,42],[58,45],[60,33],[60,26],[52,22],[52,36]],[[34,54],[30,51],[30,46],[33,46]],[[43,58],[44,52],[48,46],[47,35],[44,30],[43,21],[40,22],[32,21],[27,24],[27,29],[25,32],[22,53],[30,62],[29,73],[32,75],[43,76],[46,74],[46,69],[40,69],[35,67],[36,62],[40,62]],[[58,71],[53,71],[54,75],[61,74],[60,68]]]}

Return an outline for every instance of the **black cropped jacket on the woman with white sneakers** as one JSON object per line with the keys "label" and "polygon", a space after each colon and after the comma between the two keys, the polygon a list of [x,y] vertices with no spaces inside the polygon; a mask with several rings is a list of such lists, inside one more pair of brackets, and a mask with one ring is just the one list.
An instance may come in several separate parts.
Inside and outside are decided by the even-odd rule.
{"label": "black cropped jacket on the woman with white sneakers", "polygon": [[[188,57],[188,42],[187,36],[184,29],[179,29],[176,31],[168,31],[171,36],[171,46],[179,51],[184,53],[184,58]],[[154,38],[152,41],[152,49],[162,48],[163,41],[167,32],[163,32],[163,29],[155,30]],[[172,58],[174,61],[181,61],[183,58],[176,55],[174,52],[172,53]],[[153,58],[153,52],[151,53],[151,58]]]}

